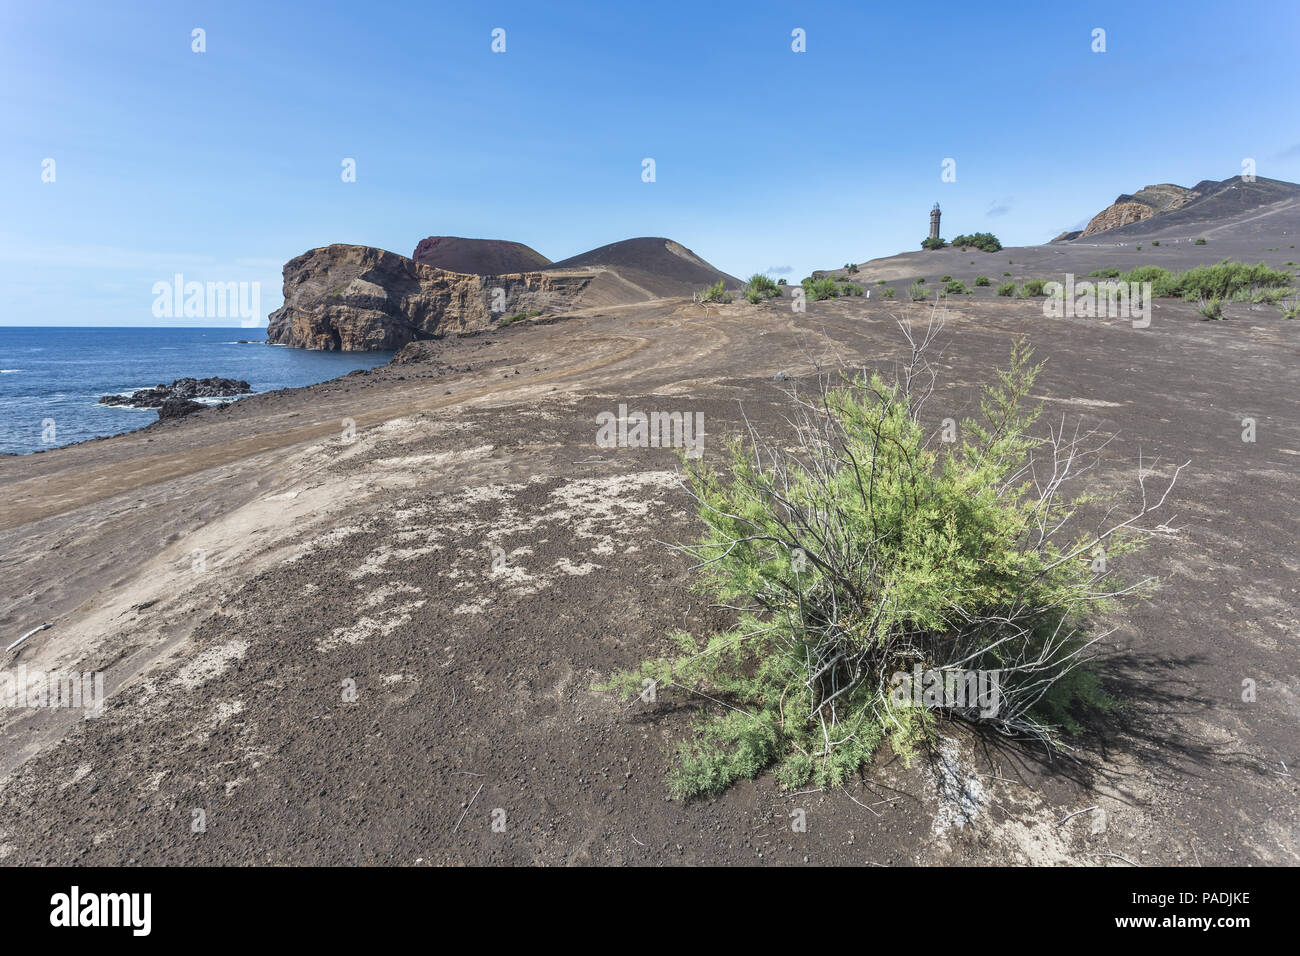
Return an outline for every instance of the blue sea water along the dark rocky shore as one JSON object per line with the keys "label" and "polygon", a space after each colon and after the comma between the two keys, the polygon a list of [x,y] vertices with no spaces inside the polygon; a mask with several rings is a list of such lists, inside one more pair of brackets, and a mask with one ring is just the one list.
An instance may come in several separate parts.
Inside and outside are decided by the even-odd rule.
{"label": "blue sea water along the dark rocky shore", "polygon": [[[272,392],[393,358],[269,346],[264,336],[265,329],[0,326],[0,451],[25,454],[157,420],[153,408],[98,405],[100,395],[213,375]],[[256,343],[239,345],[242,338]]]}

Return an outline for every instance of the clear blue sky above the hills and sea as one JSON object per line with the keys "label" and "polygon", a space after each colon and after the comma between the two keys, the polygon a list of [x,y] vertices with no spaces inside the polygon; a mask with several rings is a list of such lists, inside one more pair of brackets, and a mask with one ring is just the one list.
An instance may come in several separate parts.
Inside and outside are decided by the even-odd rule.
{"label": "clear blue sky above the hills and sea", "polygon": [[260,282],[264,324],[332,242],[667,235],[798,280],[915,248],[936,200],[1010,246],[1243,157],[1300,181],[1295,0],[989,7],[5,4],[0,324],[169,324],[176,273]]}

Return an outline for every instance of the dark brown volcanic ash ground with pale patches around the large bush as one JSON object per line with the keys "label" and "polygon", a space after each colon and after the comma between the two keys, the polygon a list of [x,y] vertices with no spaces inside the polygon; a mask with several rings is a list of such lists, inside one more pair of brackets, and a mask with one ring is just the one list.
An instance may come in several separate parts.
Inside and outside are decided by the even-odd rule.
{"label": "dark brown volcanic ash ground with pale patches around the large bush", "polygon": [[[1178,536],[1141,557],[1167,581],[1114,622],[1106,679],[1127,706],[1078,762],[954,727],[932,761],[883,756],[861,788],[762,778],[666,800],[693,705],[590,687],[716,611],[655,542],[694,535],[673,454],[598,449],[595,415],[702,411],[708,455],[741,407],[781,427],[779,371],[888,369],[893,316],[923,312],[606,310],[448,343],[441,362],[469,371],[390,367],[0,463],[0,624],[55,622],[4,666],[104,670],[112,692],[98,721],[9,714],[0,860],[1300,861],[1283,775],[1300,763],[1300,324],[1166,300],[1147,330],[967,300],[932,399],[959,419],[1027,333],[1049,410],[1119,433],[1113,486],[1139,453],[1157,473],[1192,460]],[[1097,814],[1057,826],[1093,804],[1100,832]]]}

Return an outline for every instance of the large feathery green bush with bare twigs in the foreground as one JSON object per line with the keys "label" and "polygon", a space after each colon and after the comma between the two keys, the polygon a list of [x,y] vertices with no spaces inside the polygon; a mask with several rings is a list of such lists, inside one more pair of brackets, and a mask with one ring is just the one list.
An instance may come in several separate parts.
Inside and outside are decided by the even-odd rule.
{"label": "large feathery green bush with bare twigs in the foreground", "polygon": [[[602,685],[712,702],[677,745],[673,796],[770,767],[788,788],[833,788],[887,740],[910,761],[940,717],[1050,747],[1089,705],[1113,706],[1089,670],[1089,632],[1115,593],[1149,583],[1117,587],[1092,558],[1104,549],[1113,564],[1144,536],[1131,523],[1076,531],[1088,496],[1061,501],[1026,480],[1043,449],[1030,434],[1039,410],[1024,407],[1040,368],[1017,343],[961,444],[933,442],[919,399],[876,375],[810,402],[818,418],[797,423],[794,450],[751,428],[720,470],[686,463],[705,532],[685,550],[734,623],[672,632],[673,653]],[[914,669],[997,671],[996,713],[900,697]]]}

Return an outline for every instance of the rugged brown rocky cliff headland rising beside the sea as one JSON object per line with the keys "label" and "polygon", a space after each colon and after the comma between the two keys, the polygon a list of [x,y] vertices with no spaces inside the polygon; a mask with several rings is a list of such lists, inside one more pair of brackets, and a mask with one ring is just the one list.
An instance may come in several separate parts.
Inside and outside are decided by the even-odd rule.
{"label": "rugged brown rocky cliff headland rising beside the sea", "polygon": [[516,312],[564,308],[589,281],[471,276],[370,246],[324,246],[285,264],[285,304],[270,313],[266,341],[343,351],[400,349],[477,332]]}

